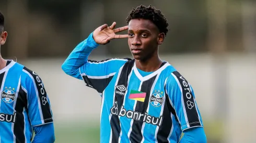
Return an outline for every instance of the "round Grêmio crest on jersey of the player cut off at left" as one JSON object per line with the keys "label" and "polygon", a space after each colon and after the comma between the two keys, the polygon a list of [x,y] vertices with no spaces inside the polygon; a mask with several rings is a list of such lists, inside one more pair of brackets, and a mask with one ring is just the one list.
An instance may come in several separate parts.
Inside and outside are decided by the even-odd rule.
{"label": "round Gr\u00eamio crest on jersey of the player cut off at left", "polygon": [[15,97],[16,97],[14,90],[15,90],[15,88],[5,87],[5,89],[1,93],[2,100],[6,103],[13,102],[15,100]]}

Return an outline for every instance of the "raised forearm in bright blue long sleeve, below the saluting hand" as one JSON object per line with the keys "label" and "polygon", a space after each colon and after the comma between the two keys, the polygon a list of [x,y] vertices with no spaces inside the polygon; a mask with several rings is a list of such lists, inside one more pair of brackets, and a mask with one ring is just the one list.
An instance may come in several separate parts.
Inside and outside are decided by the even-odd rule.
{"label": "raised forearm in bright blue long sleeve, below the saluting hand", "polygon": [[79,68],[86,64],[91,51],[97,46],[98,44],[94,41],[91,33],[86,40],[79,43],[71,54],[69,54],[62,64],[62,70],[68,75],[81,79]]}

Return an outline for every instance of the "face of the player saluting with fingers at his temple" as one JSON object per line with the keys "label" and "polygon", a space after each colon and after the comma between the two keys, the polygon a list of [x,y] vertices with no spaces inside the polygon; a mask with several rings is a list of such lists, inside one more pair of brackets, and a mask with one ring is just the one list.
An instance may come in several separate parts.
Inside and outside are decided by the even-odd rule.
{"label": "face of the player saluting with fingers at his temple", "polygon": [[129,22],[128,44],[136,60],[147,60],[158,54],[158,45],[164,41],[165,34],[159,33],[156,25],[146,19],[132,19]]}

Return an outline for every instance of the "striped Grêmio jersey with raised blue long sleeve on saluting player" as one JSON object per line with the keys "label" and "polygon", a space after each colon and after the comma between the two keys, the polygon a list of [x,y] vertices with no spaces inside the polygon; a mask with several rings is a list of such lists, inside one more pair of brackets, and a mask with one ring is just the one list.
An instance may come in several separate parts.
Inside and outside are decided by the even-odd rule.
{"label": "striped Gr\u00eamio jersey with raised blue long sleeve on saluting player", "polygon": [[91,34],[62,68],[102,96],[100,142],[178,142],[203,127],[191,85],[167,61],[142,76],[134,59],[87,60],[95,47]]}

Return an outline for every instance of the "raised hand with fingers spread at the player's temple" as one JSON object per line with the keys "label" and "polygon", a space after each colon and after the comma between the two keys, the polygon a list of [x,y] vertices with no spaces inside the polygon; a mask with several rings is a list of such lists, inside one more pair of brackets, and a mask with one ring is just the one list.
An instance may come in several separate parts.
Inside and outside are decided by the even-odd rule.
{"label": "raised hand with fingers spread at the player's temple", "polygon": [[110,27],[108,27],[107,24],[98,27],[93,33],[95,42],[97,44],[105,45],[114,38],[127,38],[128,34],[118,35],[116,33],[127,30],[128,26],[114,29],[116,24],[117,23],[113,22]]}

